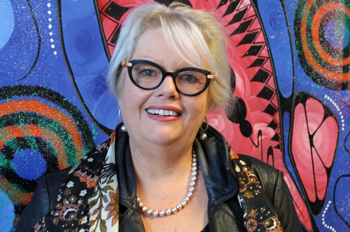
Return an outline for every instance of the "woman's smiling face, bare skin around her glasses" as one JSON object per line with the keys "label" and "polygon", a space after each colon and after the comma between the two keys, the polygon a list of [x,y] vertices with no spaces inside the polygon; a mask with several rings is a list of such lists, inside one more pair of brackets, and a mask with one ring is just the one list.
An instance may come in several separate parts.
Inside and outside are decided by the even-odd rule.
{"label": "woman's smiling face, bare skin around her glasses", "polygon": [[[152,61],[168,72],[191,67],[168,46],[160,28],[146,31],[140,37],[131,59]],[[153,90],[137,87],[128,74],[124,78],[119,102],[131,143],[138,146],[149,143],[160,146],[181,142],[192,144],[208,110],[208,90],[197,96],[185,96],[176,91],[170,76]],[[162,110],[177,115],[157,114]]]}

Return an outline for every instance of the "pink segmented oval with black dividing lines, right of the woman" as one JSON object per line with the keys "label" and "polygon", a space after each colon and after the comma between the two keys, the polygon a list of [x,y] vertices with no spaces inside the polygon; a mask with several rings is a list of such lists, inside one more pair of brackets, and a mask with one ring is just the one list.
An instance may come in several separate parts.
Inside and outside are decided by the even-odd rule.
{"label": "pink segmented oval with black dividing lines, right of the woman", "polygon": [[337,133],[335,119],[330,116],[324,119],[323,105],[316,99],[307,99],[305,108],[301,103],[295,107],[292,154],[310,202],[325,198],[328,184],[326,168],[333,164]]}

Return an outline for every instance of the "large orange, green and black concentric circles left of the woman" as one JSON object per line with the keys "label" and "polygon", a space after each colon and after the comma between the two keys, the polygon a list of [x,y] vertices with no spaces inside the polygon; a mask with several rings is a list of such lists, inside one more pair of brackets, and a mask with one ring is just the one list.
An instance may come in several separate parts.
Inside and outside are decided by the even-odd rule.
{"label": "large orange, green and black concentric circles left of the woman", "polygon": [[0,88],[0,188],[19,216],[38,179],[73,166],[93,149],[81,112],[41,86]]}

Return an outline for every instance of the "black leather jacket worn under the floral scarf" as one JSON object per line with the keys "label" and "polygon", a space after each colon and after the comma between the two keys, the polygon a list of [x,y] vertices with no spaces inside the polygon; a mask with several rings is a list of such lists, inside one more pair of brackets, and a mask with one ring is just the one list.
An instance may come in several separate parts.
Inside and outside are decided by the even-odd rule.
{"label": "black leather jacket worn under the floral scarf", "polygon": [[[136,202],[136,183],[129,151],[127,133],[119,132],[116,142],[116,163],[120,191],[120,232],[144,232]],[[206,140],[194,141],[199,167],[205,179],[208,194],[208,220],[210,232],[246,232],[243,212],[237,200],[238,182],[224,137],[209,127]],[[267,198],[271,201],[284,232],[302,231],[294,210],[292,198],[284,183],[283,175],[255,158],[240,155],[260,180]],[[31,202],[25,208],[17,226],[17,232],[29,232],[56,203],[60,184],[70,169],[49,174],[39,180]]]}

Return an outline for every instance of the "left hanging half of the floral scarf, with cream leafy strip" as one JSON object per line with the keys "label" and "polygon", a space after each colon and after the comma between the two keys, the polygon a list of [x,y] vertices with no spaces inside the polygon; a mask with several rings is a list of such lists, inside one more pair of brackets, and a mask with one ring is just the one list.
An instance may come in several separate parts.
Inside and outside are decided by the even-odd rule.
{"label": "left hanging half of the floral scarf, with cream leafy strip", "polygon": [[115,167],[116,131],[87,154],[61,185],[55,209],[32,232],[118,231],[119,191]]}

